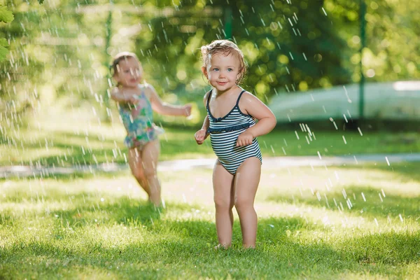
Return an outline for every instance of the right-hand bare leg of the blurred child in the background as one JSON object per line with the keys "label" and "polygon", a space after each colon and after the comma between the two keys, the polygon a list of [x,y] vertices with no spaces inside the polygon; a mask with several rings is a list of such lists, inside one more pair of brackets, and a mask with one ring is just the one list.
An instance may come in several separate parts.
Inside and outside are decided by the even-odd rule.
{"label": "right-hand bare leg of the blurred child in the background", "polygon": [[158,160],[160,154],[159,139],[148,142],[141,151],[143,158],[144,174],[148,183],[149,197],[155,206],[160,206],[162,199],[160,197],[160,182],[158,180]]}

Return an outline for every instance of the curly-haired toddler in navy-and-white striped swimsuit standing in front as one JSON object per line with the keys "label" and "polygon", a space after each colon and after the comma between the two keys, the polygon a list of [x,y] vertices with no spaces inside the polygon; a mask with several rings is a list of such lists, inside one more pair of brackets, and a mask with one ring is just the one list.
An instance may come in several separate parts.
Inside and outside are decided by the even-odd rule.
{"label": "curly-haired toddler in navy-and-white striped swimsuit standing in front", "polygon": [[212,89],[204,95],[207,116],[195,141],[201,145],[210,135],[218,157],[213,171],[218,248],[227,248],[232,242],[234,206],[242,244],[254,248],[258,218],[253,203],[262,163],[257,137],[269,133],[276,118],[260,99],[239,87],[246,66],[235,43],[216,40],[202,46],[201,52],[202,73]]}

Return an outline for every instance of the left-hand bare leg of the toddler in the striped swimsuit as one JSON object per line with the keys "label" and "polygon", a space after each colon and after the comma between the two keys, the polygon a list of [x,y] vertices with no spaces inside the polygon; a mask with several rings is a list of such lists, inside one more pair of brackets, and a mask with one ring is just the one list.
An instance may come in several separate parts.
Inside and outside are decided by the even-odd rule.
{"label": "left-hand bare leg of the toddler in the striped swimsuit", "polygon": [[233,175],[217,160],[213,170],[214,204],[216,205],[216,230],[219,244],[232,243],[234,205]]}

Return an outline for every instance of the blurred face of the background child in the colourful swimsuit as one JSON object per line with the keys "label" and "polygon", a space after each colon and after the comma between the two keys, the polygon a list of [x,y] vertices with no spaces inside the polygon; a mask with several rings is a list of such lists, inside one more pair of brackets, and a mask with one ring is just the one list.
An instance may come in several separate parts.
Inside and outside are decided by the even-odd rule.
{"label": "blurred face of the background child in the colourful swimsuit", "polygon": [[114,74],[115,80],[123,87],[137,87],[141,80],[143,69],[134,57],[122,59],[118,63],[118,71]]}

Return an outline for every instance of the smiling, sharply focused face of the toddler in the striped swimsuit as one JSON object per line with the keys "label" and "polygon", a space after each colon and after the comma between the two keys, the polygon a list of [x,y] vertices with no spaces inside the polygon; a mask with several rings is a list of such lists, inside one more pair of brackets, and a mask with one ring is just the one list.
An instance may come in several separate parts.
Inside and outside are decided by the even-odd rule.
{"label": "smiling, sharply focused face of the toddler in the striped swimsuit", "polygon": [[202,71],[213,87],[225,92],[236,85],[240,66],[239,59],[232,53],[218,53],[211,57],[210,63]]}

